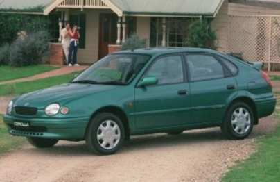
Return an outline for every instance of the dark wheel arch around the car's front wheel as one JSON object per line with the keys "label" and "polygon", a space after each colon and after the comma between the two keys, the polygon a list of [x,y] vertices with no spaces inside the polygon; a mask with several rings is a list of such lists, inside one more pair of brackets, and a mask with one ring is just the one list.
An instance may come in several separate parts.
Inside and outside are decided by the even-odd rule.
{"label": "dark wheel arch around the car's front wheel", "polygon": [[104,106],[102,108],[99,108],[94,113],[92,113],[89,123],[87,124],[85,136],[87,135],[87,131],[89,128],[89,124],[91,124],[92,119],[99,113],[112,113],[121,119],[121,122],[123,123],[123,126],[125,128],[125,139],[128,140],[130,138],[130,126],[129,126],[129,120],[128,116],[125,114],[123,109],[119,108],[118,106]]}

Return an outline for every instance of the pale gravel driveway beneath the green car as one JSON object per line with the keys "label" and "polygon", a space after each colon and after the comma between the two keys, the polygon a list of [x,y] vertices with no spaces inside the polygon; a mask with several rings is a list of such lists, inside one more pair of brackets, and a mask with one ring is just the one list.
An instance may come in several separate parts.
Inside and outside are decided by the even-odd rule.
{"label": "pale gravel driveway beneath the green car", "polygon": [[256,136],[275,126],[271,117],[262,119],[241,141],[225,140],[217,128],[138,136],[112,156],[89,154],[85,142],[26,145],[0,157],[0,181],[219,181],[227,167],[252,154]]}

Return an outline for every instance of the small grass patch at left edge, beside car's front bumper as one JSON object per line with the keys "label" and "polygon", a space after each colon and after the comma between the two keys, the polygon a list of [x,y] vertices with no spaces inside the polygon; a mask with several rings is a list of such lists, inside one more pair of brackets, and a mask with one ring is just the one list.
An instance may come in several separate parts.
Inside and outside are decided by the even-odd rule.
{"label": "small grass patch at left edge, beside car's front bumper", "polygon": [[21,144],[26,142],[25,138],[13,137],[8,134],[7,127],[3,123],[3,117],[0,115],[0,155],[21,147]]}

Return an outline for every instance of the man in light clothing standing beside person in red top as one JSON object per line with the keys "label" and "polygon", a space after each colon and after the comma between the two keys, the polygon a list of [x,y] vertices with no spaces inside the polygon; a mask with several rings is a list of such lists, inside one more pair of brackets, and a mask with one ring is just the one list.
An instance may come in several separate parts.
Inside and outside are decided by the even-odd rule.
{"label": "man in light clothing standing beside person in red top", "polygon": [[69,64],[69,49],[70,49],[70,42],[71,42],[71,36],[69,35],[69,30],[71,29],[69,22],[66,22],[65,28],[62,29],[61,35],[62,35],[62,47],[64,51],[64,55],[66,58],[67,65]]}

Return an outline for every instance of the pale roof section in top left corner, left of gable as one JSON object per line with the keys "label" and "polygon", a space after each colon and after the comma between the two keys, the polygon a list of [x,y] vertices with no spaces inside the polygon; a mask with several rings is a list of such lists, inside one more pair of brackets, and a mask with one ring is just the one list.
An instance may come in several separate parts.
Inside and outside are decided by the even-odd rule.
{"label": "pale roof section in top left corner, left of gable", "polygon": [[43,14],[44,8],[55,0],[0,0],[0,12]]}

